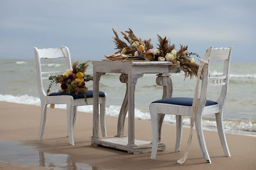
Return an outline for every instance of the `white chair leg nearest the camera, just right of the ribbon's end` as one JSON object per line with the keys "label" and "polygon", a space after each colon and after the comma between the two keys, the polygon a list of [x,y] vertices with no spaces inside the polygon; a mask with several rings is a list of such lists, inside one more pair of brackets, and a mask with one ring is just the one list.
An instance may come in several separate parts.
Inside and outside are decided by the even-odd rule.
{"label": "white chair leg nearest the camera, just right of the ribbon's end", "polygon": [[209,157],[209,153],[207,151],[205,141],[204,141],[204,133],[203,133],[203,129],[202,129],[202,116],[201,115],[195,116],[195,127],[196,127],[198,142],[199,142],[201,151],[203,153],[204,159],[206,162],[211,163],[211,159]]}

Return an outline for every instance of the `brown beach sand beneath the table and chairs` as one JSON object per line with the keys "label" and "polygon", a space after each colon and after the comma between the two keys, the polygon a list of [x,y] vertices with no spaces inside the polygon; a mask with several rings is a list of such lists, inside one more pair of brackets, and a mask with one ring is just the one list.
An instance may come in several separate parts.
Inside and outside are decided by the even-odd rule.
{"label": "brown beach sand beneath the table and chairs", "polygon": [[[166,144],[166,150],[158,152],[156,160],[151,160],[150,153],[129,154],[111,148],[92,146],[90,113],[77,113],[74,129],[75,145],[68,145],[66,118],[65,110],[48,108],[43,139],[36,141],[40,124],[40,106],[0,102],[0,140],[18,141],[24,146],[33,146],[40,153],[65,154],[68,155],[71,164],[88,164],[92,169],[256,169],[255,137],[226,134],[232,156],[228,158],[224,156],[218,132],[204,131],[205,142],[212,160],[212,164],[207,164],[204,162],[194,132],[188,160],[184,165],[179,165],[176,161],[184,153],[188,128],[183,129],[180,152],[174,153],[175,126],[164,124],[162,141]],[[117,120],[117,117],[106,118],[108,136],[116,134]],[[136,139],[151,141],[150,121],[136,120],[135,131]],[[127,121],[125,134],[127,134]],[[15,162],[14,158],[13,161],[0,161],[0,169],[22,169],[28,166]],[[44,169],[36,165],[28,168]]]}

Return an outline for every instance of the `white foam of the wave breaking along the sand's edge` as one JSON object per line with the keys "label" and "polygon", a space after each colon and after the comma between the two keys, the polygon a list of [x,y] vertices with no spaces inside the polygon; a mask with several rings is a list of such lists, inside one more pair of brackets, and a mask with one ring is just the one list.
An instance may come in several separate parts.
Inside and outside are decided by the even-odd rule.
{"label": "white foam of the wave breaking along the sand's edge", "polygon": [[[12,96],[12,95],[2,95],[0,94],[0,101],[6,101],[11,103],[20,103],[20,104],[31,104],[40,106],[40,99],[38,97],[32,97],[28,95],[22,96]],[[66,106],[64,104],[56,104],[56,108],[65,109]],[[106,115],[118,117],[120,106],[107,106],[106,107]],[[83,111],[86,113],[93,113],[93,106],[79,106],[78,111]],[[135,109],[135,118],[142,120],[150,120],[150,113],[148,111],[142,111],[140,109]],[[164,118],[164,122],[175,124],[176,119],[175,115],[166,115]],[[189,117],[183,118],[183,124],[186,127],[190,126]],[[210,129],[216,131],[216,122],[212,120],[203,120],[204,129]],[[236,133],[236,134],[244,134],[256,137],[256,123],[251,120],[225,120],[224,127],[226,132]]]}

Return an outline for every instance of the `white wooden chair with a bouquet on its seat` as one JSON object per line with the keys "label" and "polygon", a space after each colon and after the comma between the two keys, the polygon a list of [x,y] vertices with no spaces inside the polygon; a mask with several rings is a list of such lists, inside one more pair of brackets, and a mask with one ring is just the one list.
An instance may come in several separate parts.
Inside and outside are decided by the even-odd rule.
{"label": "white wooden chair with a bouquet on its seat", "polygon": [[[45,119],[46,119],[46,111],[47,111],[47,104],[67,104],[67,129],[68,129],[68,139],[70,145],[74,145],[74,138],[73,138],[73,129],[76,122],[76,112],[77,106],[83,105],[92,105],[93,104],[93,90],[89,90],[86,94],[87,96],[87,103],[84,101],[83,95],[59,95],[55,93],[55,96],[47,96],[45,94],[44,86],[43,86],[43,79],[48,80],[48,75],[52,74],[62,74],[65,71],[47,71],[42,72],[42,59],[65,59],[67,61],[67,69],[72,69],[71,59],[70,59],[70,52],[67,46],[62,46],[61,48],[43,48],[38,49],[34,48],[35,50],[35,59],[36,59],[36,76],[37,76],[37,85],[38,85],[38,92],[41,101],[41,122],[40,122],[40,130],[38,134],[38,141],[42,139],[44,134],[44,127],[45,127]],[[45,75],[46,74],[46,75]],[[44,76],[45,75],[45,76]],[[106,137],[106,125],[105,125],[105,106],[106,106],[106,94],[104,92],[99,93],[99,104],[100,104],[100,127],[102,131],[102,136]]]}

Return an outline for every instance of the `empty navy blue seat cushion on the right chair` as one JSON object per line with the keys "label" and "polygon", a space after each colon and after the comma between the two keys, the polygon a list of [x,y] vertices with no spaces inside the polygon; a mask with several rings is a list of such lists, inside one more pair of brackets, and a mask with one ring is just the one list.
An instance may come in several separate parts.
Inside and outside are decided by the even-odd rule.
{"label": "empty navy blue seat cushion on the right chair", "polygon": [[[192,106],[193,98],[191,98],[191,97],[172,97],[172,98],[154,101],[152,103],[165,103],[165,104],[174,104],[174,105],[180,105],[180,106]],[[205,106],[211,106],[214,104],[218,104],[218,103],[216,103],[216,101],[207,100],[205,103]]]}

